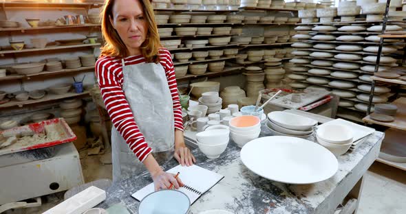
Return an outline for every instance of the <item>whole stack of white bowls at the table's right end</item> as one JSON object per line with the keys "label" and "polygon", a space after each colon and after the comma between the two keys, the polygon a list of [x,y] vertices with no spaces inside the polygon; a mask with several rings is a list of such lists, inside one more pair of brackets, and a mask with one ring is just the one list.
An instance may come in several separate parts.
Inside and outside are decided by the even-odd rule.
{"label": "whole stack of white bowls at the table's right end", "polygon": [[350,128],[341,125],[327,125],[317,128],[317,142],[339,156],[350,149],[353,134]]}

